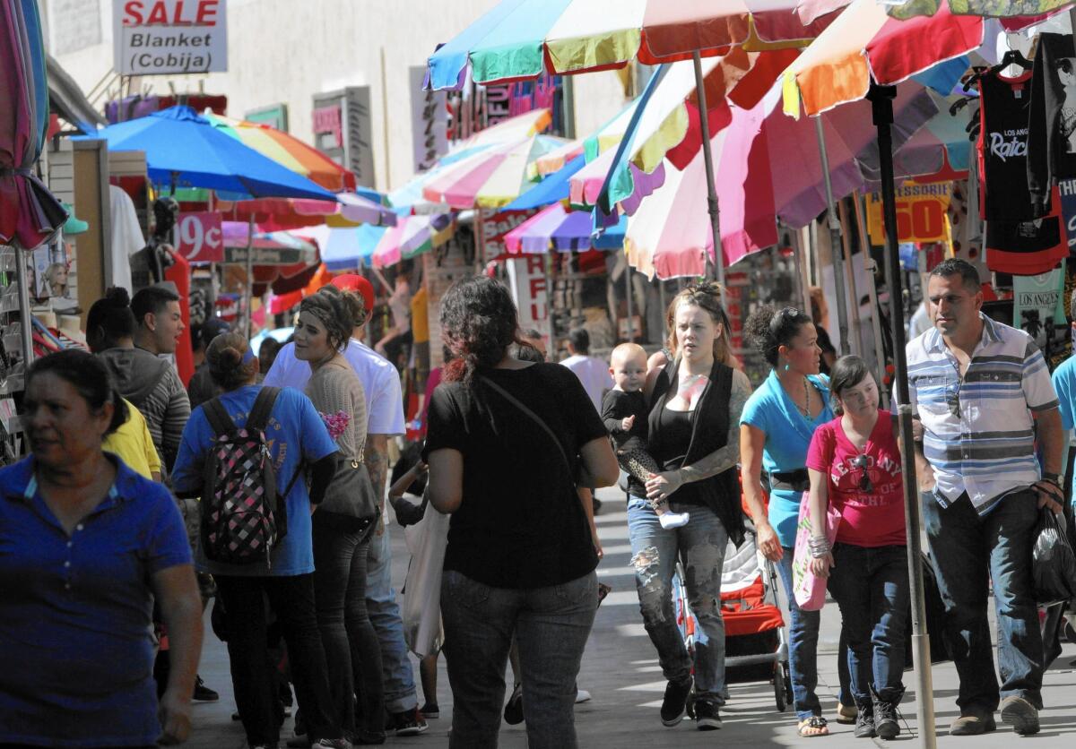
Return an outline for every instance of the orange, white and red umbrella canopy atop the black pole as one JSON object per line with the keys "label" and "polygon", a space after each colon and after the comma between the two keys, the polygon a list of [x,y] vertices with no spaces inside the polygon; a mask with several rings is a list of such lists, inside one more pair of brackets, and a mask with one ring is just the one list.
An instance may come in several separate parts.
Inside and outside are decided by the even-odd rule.
{"label": "orange, white and red umbrella canopy atop the black pole", "polygon": [[881,85],[906,81],[982,45],[981,18],[943,5],[931,17],[900,21],[877,0],[853,0],[784,72],[784,111],[825,112]]}

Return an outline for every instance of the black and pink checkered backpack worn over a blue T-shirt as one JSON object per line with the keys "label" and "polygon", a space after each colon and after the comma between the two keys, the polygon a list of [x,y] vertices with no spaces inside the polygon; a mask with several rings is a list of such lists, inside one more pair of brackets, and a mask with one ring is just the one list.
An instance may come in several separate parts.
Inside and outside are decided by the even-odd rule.
{"label": "black and pink checkered backpack worn over a blue T-shirt", "polygon": [[285,500],[299,469],[278,493],[265,436],[279,394],[280,388],[261,388],[242,429],[218,397],[202,405],[214,432],[202,481],[201,542],[209,560],[253,564],[265,559],[268,567],[273,548],[287,533]]}

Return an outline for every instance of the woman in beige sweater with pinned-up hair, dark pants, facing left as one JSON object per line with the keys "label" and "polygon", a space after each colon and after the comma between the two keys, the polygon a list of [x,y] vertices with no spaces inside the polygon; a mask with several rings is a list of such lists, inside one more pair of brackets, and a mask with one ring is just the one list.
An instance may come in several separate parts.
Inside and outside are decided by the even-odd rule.
{"label": "woman in beige sweater with pinned-up hair, dark pants, facing left", "polygon": [[[341,354],[353,323],[343,293],[326,286],[302,300],[295,327],[295,356],[313,372],[307,395],[336,440],[340,460],[349,465],[362,462],[366,444],[363,383]],[[329,687],[344,733],[357,744],[384,740],[381,646],[366,610],[366,566],[377,519],[373,515],[364,523],[326,510],[312,519],[314,600]],[[362,726],[355,718],[356,691],[363,698]]]}

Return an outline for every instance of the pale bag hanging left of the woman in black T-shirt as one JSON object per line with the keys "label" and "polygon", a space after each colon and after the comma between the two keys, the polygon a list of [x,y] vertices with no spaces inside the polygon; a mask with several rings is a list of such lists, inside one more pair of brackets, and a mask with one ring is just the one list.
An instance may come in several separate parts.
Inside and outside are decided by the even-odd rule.
{"label": "pale bag hanging left of the woman in black T-shirt", "polygon": [[426,504],[426,514],[406,531],[411,564],[404,585],[404,642],[419,658],[441,649],[441,572],[449,545],[449,516]]}

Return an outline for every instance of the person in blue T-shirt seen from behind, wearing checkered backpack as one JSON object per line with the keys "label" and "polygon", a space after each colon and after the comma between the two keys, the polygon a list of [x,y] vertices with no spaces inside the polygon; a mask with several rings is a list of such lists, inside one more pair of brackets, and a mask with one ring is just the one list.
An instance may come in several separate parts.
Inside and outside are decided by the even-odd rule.
{"label": "person in blue T-shirt seen from behind, wearing checkered backpack", "polygon": [[[183,430],[172,481],[176,494],[197,496],[202,490],[206,459],[215,443],[206,408],[218,402],[237,428],[243,428],[261,386],[258,360],[239,333],[213,339],[206,351],[210,376],[222,394],[198,406]],[[286,492],[287,533],[268,560],[229,564],[207,558],[199,543],[196,563],[216,579],[224,604],[231,683],[239,717],[251,747],[275,747],[281,716],[269,653],[266,607],[277,616],[287,643],[295,695],[315,747],[351,746],[343,738],[340,716],[329,696],[325,650],[314,608],[314,552],[310,515],[336,475],[337,444],[317,409],[305,394],[282,388],[269,412],[265,438],[278,491]],[[298,472],[310,466],[310,490]],[[203,502],[206,499],[203,498]],[[201,542],[201,539],[199,539]]]}

